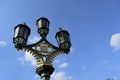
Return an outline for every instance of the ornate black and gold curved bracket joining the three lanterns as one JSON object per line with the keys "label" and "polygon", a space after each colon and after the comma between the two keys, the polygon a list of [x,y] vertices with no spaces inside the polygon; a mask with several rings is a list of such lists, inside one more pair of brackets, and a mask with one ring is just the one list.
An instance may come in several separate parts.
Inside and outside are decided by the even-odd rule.
{"label": "ornate black and gold curved bracket joining the three lanterns", "polygon": [[42,65],[52,66],[53,59],[64,53],[64,50],[52,45],[46,38],[42,38],[35,44],[16,46],[16,49],[30,52],[35,57],[38,67]]}

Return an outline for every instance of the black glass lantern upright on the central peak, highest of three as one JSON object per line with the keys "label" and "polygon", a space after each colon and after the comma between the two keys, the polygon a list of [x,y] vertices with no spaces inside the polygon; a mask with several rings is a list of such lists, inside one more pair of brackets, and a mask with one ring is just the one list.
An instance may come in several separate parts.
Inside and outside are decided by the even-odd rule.
{"label": "black glass lantern upright on the central peak, highest of three", "polygon": [[38,27],[38,33],[41,37],[46,37],[49,33],[49,20],[47,18],[41,17],[37,20],[36,25]]}

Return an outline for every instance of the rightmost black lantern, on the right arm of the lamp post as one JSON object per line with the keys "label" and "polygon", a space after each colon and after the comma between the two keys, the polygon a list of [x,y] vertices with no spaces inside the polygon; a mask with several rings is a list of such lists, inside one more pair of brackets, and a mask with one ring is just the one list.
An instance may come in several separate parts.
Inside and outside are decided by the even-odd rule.
{"label": "rightmost black lantern, on the right arm of the lamp post", "polygon": [[56,33],[55,38],[58,42],[59,48],[63,49],[65,53],[70,52],[71,40],[68,31],[60,28],[60,31]]}

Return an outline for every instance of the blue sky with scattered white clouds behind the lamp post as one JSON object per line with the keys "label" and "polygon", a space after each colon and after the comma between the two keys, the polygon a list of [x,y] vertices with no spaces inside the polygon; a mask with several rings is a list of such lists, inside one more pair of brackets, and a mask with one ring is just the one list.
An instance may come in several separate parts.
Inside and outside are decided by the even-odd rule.
{"label": "blue sky with scattered white clouds behind the lamp post", "polygon": [[69,55],[53,64],[51,80],[120,80],[119,0],[0,0],[0,80],[40,80],[35,60],[12,43],[14,27],[26,22],[28,43],[40,39],[36,20],[50,20],[47,39],[57,46],[59,27],[70,32]]}

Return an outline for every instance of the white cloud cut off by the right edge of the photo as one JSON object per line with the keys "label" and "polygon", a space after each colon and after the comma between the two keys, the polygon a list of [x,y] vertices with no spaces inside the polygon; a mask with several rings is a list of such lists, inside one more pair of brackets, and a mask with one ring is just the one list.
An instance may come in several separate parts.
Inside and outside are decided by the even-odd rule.
{"label": "white cloud cut off by the right edge of the photo", "polygon": [[110,40],[110,45],[115,48],[115,50],[120,49],[120,33],[112,35]]}

